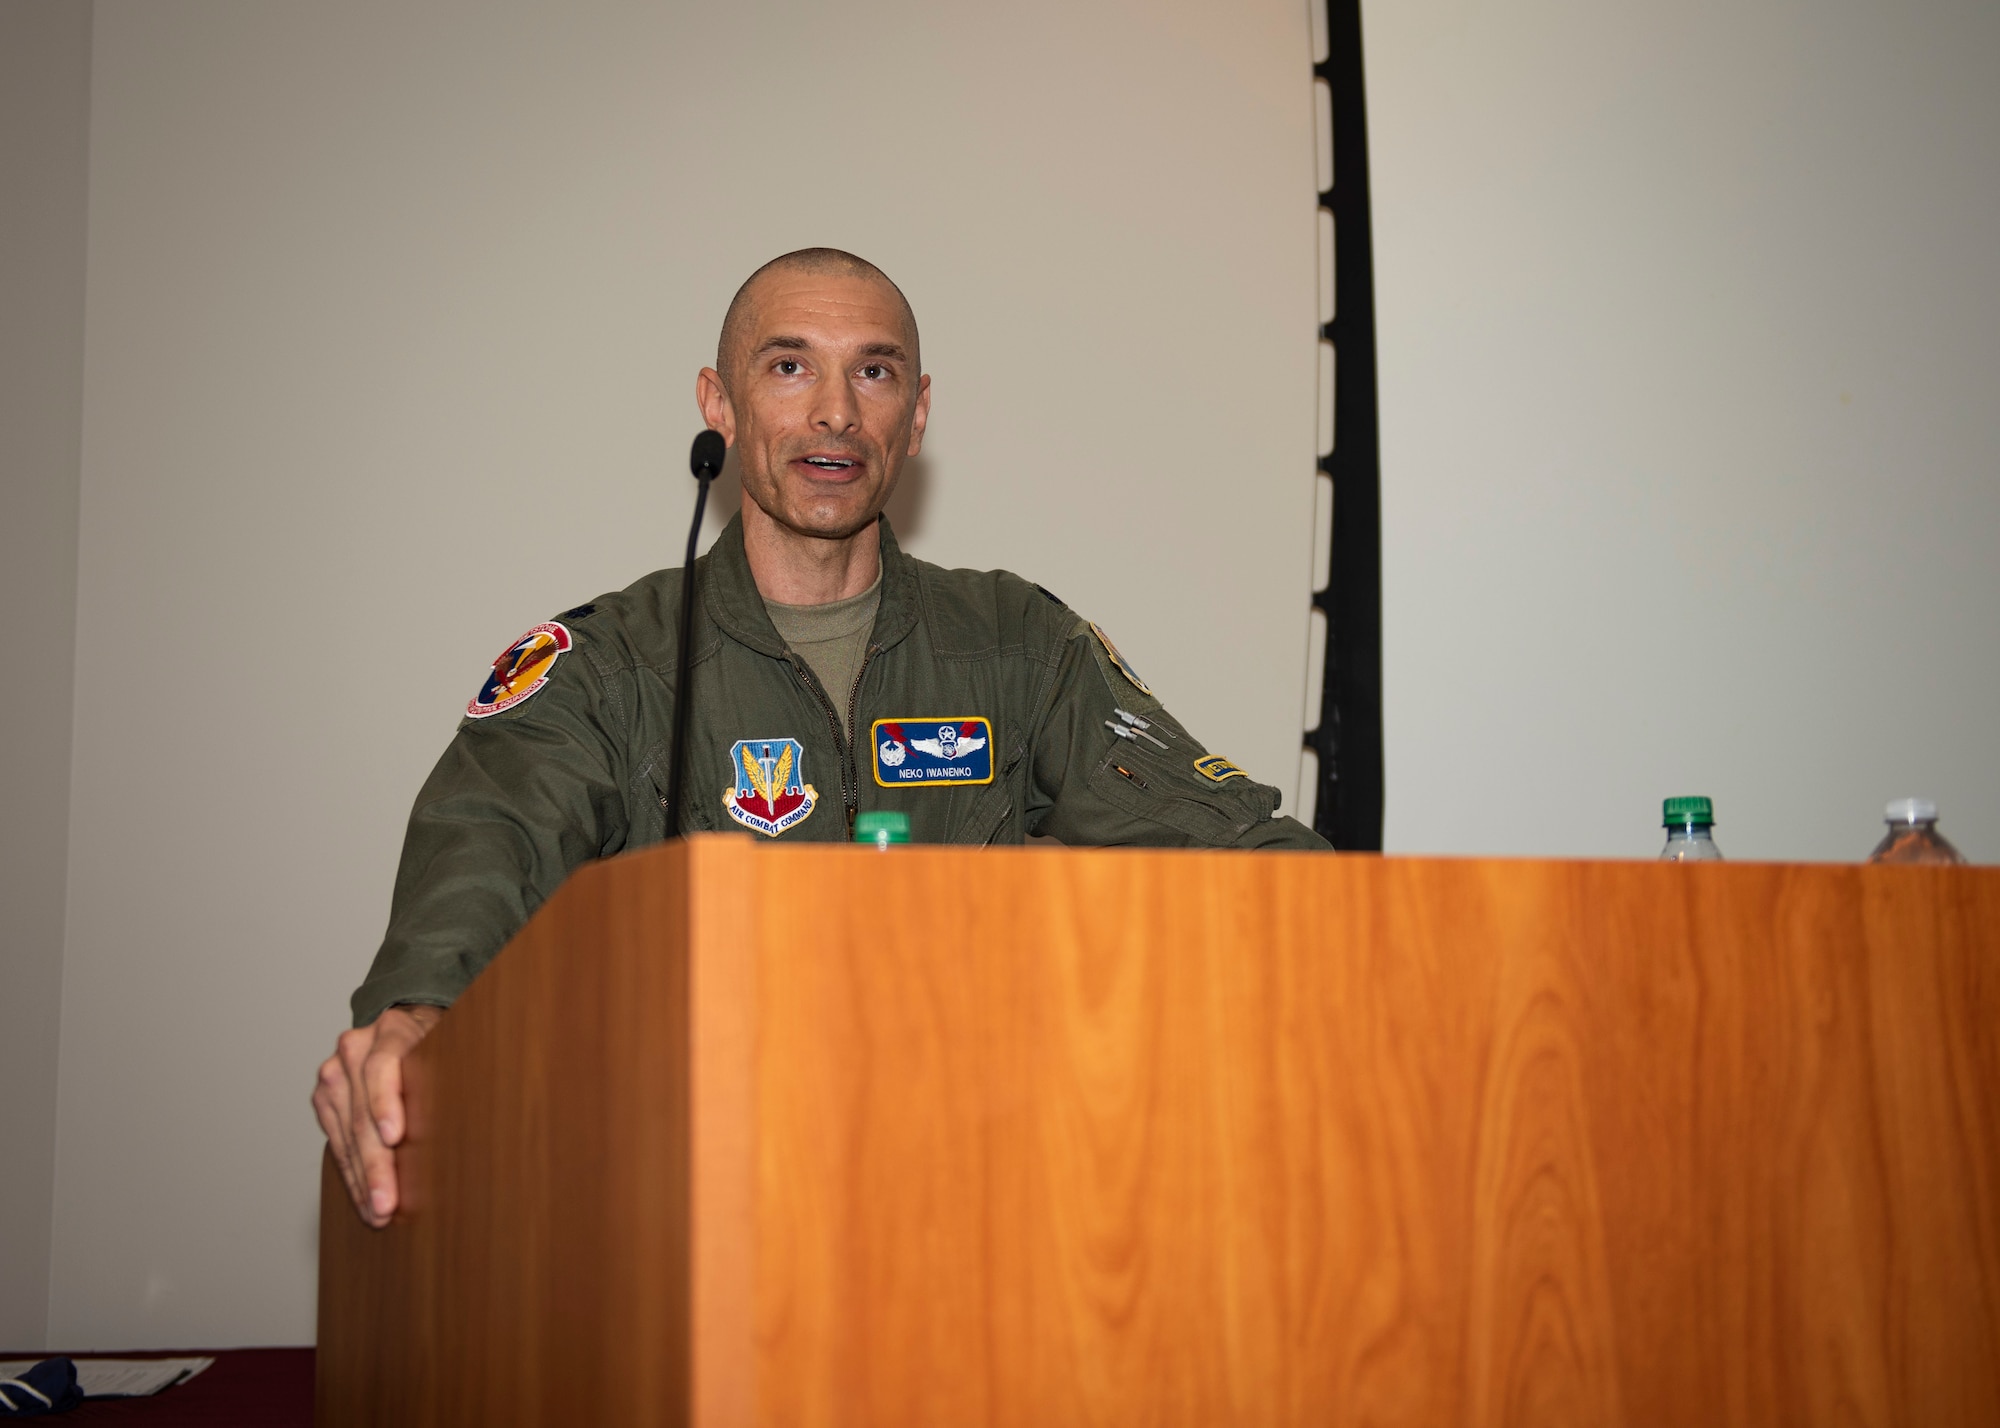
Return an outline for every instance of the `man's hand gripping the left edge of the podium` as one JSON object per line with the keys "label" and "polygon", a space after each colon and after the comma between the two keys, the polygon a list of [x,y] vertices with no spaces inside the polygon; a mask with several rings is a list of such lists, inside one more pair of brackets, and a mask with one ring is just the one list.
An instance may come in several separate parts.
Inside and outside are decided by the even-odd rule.
{"label": "man's hand gripping the left edge of the podium", "polygon": [[362,1220],[382,1228],[396,1214],[396,1150],[402,1142],[402,1058],[444,1016],[442,1006],[392,1006],[370,1026],[340,1032],[320,1064],[312,1108]]}

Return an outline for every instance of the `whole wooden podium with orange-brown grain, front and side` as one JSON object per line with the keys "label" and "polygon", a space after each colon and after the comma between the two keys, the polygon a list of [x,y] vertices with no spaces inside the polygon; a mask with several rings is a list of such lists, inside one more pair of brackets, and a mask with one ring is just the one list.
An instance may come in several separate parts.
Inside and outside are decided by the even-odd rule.
{"label": "whole wooden podium with orange-brown grain, front and side", "polygon": [[2000,1422],[2000,870],[708,836],[328,1170],[318,1422]]}

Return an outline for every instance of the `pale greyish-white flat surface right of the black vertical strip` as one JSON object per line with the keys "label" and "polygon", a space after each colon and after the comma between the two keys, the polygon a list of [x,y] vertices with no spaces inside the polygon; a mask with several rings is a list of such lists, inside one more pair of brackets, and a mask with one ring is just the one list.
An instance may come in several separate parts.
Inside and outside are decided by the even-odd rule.
{"label": "pale greyish-white flat surface right of the black vertical strip", "polygon": [[2000,858],[2000,10],[1366,20],[1390,846]]}

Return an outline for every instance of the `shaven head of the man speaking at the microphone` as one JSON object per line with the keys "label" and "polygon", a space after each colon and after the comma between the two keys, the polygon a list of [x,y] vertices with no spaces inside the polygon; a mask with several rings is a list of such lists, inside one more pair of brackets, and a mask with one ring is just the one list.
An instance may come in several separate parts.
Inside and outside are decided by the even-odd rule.
{"label": "shaven head of the man speaking at the microphone", "polygon": [[826,540],[882,512],[930,416],[910,304],[838,248],[788,252],[750,274],[694,396],[736,448],[744,496]]}

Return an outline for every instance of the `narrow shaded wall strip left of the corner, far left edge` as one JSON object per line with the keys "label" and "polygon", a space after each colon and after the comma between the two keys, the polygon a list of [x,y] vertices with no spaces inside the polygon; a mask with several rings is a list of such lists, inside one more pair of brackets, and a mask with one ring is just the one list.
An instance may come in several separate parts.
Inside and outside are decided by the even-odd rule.
{"label": "narrow shaded wall strip left of the corner, far left edge", "polygon": [[88,124],[90,4],[0,4],[0,1350],[48,1320]]}

